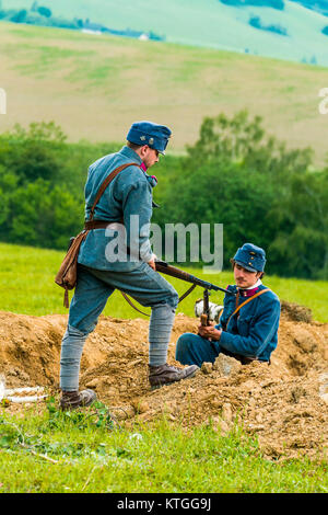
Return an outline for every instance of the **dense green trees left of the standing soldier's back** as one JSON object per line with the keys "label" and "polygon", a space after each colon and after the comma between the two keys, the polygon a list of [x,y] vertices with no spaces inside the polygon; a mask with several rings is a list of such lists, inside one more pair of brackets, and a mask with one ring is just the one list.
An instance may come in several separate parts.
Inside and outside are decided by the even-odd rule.
{"label": "dense green trees left of the standing soldier's back", "polygon": [[118,146],[67,144],[54,123],[0,136],[0,239],[66,249],[84,219],[87,167]]}

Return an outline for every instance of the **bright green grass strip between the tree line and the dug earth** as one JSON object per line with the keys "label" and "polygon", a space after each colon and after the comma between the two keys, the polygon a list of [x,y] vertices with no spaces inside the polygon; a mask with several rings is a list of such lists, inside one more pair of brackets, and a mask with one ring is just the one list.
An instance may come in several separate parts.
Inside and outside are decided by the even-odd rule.
{"label": "bright green grass strip between the tree line and the dug earth", "polygon": [[[68,310],[62,305],[63,289],[54,282],[63,255],[63,252],[52,250],[0,243],[0,310],[35,316],[67,313]],[[206,275],[201,270],[189,270],[194,275],[224,288],[227,284],[233,284],[232,272]],[[179,279],[168,276],[166,278],[179,295],[189,287]],[[315,320],[328,321],[327,282],[266,276],[265,284],[273,289],[280,299],[309,307]],[[192,317],[195,300],[201,296],[202,289],[196,288],[179,305],[178,312]],[[211,295],[211,301],[222,304],[223,294]],[[109,298],[103,314],[127,319],[145,318],[134,311],[118,291]]]}

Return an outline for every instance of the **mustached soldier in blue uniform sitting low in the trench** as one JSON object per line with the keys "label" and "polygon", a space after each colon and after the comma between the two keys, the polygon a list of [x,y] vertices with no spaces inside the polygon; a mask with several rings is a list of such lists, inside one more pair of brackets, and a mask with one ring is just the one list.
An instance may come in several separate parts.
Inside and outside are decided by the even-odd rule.
{"label": "mustached soldier in blue uniform sitting low in the trench", "polygon": [[236,285],[227,289],[237,295],[226,294],[218,325],[200,325],[198,335],[185,333],[178,339],[176,359],[184,365],[214,363],[220,353],[243,365],[254,359],[270,363],[278,343],[280,301],[261,282],[266,253],[245,243],[231,262]]}

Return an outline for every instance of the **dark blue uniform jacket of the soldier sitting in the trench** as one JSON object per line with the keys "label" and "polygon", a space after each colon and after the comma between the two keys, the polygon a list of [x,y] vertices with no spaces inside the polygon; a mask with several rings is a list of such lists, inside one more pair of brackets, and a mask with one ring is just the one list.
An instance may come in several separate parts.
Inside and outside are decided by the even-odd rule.
{"label": "dark blue uniform jacket of the soldier sitting in the trench", "polygon": [[[229,286],[227,289],[237,291],[236,286]],[[266,286],[260,285],[258,290],[261,289],[266,289]],[[239,304],[246,299],[241,296]],[[216,325],[216,329],[222,329],[221,339],[213,344],[234,354],[269,360],[278,343],[279,298],[273,291],[266,291],[250,300],[230,319],[235,307],[236,297],[226,294],[220,324]]]}

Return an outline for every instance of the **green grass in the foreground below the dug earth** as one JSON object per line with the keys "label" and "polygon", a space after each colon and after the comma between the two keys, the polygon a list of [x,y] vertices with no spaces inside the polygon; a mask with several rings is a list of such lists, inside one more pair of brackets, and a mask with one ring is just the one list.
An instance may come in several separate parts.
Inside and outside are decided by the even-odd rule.
{"label": "green grass in the foreground below the dug earth", "polygon": [[165,417],[150,427],[110,430],[104,408],[83,413],[0,408],[1,493],[327,492],[327,464],[272,462],[235,427],[187,433]]}

